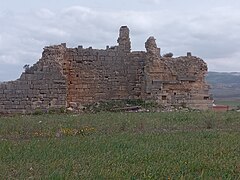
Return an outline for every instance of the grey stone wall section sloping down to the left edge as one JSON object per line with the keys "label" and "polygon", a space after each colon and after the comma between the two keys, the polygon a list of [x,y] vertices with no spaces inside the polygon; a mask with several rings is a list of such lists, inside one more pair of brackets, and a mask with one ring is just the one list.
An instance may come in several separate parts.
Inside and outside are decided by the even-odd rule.
{"label": "grey stone wall section sloping down to the left edge", "polygon": [[56,62],[62,57],[58,48],[45,49],[42,59],[27,68],[18,80],[0,84],[0,113],[65,107],[66,79]]}

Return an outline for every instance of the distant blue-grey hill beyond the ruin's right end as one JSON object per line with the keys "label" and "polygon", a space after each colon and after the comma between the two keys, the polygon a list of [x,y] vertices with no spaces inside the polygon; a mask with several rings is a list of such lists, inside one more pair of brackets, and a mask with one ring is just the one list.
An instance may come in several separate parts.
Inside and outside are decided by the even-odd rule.
{"label": "distant blue-grey hill beyond the ruin's right end", "polygon": [[240,99],[240,72],[208,72],[206,80],[214,99]]}

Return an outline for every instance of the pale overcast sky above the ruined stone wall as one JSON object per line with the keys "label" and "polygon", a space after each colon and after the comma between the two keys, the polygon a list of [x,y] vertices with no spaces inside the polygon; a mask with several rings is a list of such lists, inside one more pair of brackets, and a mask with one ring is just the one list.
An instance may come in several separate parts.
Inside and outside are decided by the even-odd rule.
{"label": "pale overcast sky above the ruined stone wall", "polygon": [[240,71],[239,0],[0,0],[0,81],[17,79],[47,45],[116,45],[122,25],[132,50],[154,36],[162,54],[191,51],[210,71]]}

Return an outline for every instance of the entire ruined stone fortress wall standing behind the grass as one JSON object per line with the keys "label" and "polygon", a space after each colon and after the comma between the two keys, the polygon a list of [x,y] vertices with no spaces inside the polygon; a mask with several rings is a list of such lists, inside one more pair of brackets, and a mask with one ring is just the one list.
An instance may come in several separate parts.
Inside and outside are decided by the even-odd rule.
{"label": "entire ruined stone fortress wall standing behind the grass", "polygon": [[72,107],[106,100],[152,100],[163,106],[208,109],[206,63],[191,53],[161,56],[154,37],[145,51],[131,51],[129,29],[106,49],[44,48],[41,59],[16,81],[0,84],[0,113]]}

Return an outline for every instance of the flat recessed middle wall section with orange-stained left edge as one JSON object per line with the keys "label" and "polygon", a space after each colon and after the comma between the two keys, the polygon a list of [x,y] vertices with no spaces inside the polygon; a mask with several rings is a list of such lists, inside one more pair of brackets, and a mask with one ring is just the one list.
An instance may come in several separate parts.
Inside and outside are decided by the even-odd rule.
{"label": "flat recessed middle wall section with orange-stained left edge", "polygon": [[119,46],[106,50],[68,49],[68,104],[141,98],[143,56],[142,52],[124,52]]}

